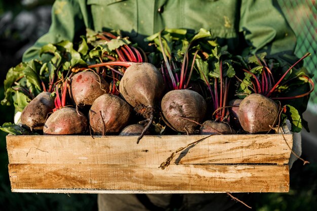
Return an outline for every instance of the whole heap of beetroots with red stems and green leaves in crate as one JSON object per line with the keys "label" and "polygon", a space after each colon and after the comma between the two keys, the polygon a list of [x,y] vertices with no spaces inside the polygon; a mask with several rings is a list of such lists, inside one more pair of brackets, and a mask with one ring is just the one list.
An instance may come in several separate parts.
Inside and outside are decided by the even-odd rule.
{"label": "whole heap of beetroots with red stems and green leaves in crate", "polygon": [[[309,54],[283,70],[265,54],[231,55],[205,29],[153,34],[151,54],[122,40],[110,32],[83,39],[94,44],[90,57],[78,54],[84,62],[50,74],[48,89],[42,82],[21,113],[22,127],[44,135],[135,135],[137,143],[157,134],[269,133],[286,119],[301,129],[301,112],[289,102],[313,90],[308,74],[295,69]],[[295,85],[308,90],[292,96]]]}

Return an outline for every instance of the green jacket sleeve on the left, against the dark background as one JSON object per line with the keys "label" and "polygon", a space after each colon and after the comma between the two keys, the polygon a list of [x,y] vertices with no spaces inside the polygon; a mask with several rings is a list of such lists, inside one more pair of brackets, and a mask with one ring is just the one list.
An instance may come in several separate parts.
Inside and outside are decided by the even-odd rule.
{"label": "green jacket sleeve on the left, against the dark background", "polygon": [[49,32],[24,52],[22,61],[39,59],[39,50],[48,43],[58,43],[65,39],[72,41],[77,32],[85,30],[87,20],[85,1],[56,0],[52,7],[52,24]]}

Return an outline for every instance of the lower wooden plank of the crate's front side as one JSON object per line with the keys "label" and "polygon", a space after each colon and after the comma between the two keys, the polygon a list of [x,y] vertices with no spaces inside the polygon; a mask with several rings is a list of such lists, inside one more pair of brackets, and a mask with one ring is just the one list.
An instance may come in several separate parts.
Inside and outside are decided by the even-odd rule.
{"label": "lower wooden plank of the crate's front side", "polygon": [[[12,191],[288,192],[288,165],[9,164]],[[22,192],[22,191],[21,191]]]}

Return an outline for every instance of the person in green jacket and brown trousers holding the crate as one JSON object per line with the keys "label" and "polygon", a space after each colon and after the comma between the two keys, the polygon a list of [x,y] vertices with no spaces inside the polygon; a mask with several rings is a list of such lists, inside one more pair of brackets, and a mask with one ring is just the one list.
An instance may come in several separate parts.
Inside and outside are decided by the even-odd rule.
{"label": "person in green jacket and brown trousers holding the crate", "polygon": [[[121,30],[144,50],[144,38],[164,28],[206,28],[234,54],[266,52],[289,63],[296,37],[276,1],[263,0],[57,0],[47,34],[23,55],[39,59],[39,49],[61,40],[75,41],[86,28]],[[300,137],[297,141],[300,154]],[[294,162],[295,159],[292,160]],[[226,194],[99,194],[103,210],[242,210]]]}

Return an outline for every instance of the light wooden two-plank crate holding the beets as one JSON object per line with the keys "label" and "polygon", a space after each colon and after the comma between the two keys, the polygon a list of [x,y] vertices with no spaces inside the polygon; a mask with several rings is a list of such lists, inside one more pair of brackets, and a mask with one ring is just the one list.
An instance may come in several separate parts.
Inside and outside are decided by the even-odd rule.
{"label": "light wooden two-plank crate holding the beets", "polygon": [[[288,192],[291,134],[7,136],[13,192]],[[200,141],[199,141],[200,140]],[[195,144],[190,144],[195,141]],[[186,147],[188,145],[188,147]],[[181,147],[164,170],[160,168]]]}

